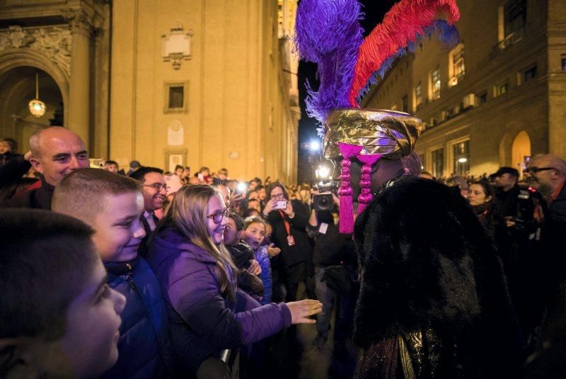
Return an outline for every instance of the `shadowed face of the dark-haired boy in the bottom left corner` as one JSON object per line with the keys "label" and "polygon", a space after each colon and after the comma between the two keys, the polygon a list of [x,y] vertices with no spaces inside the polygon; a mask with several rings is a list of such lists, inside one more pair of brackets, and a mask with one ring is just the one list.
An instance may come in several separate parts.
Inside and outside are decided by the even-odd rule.
{"label": "shadowed face of the dark-haired boy in the bottom left corner", "polygon": [[117,361],[120,313],[126,298],[108,287],[106,278],[105,268],[99,261],[83,292],[67,310],[67,329],[60,346],[74,366],[70,376],[99,375]]}

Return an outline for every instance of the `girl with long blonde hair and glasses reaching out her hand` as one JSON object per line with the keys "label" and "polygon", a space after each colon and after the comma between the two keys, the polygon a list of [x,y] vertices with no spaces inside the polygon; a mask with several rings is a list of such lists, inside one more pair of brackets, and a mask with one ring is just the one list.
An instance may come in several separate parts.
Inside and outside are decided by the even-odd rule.
{"label": "girl with long blonde hair and glasses reaching out her hand", "polygon": [[150,242],[147,260],[168,307],[177,375],[226,375],[222,349],[248,346],[291,324],[314,324],[308,317],[322,307],[316,300],[259,306],[238,290],[235,266],[223,244],[228,214],[212,186],[185,186]]}

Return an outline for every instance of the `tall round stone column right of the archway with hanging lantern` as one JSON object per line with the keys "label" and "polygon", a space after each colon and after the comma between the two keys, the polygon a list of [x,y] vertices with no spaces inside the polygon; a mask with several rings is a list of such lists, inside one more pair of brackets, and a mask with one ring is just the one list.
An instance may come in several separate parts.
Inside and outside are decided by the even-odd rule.
{"label": "tall round stone column right of the archway with hanging lantern", "polygon": [[91,123],[91,35],[93,34],[92,17],[83,9],[67,9],[63,16],[71,26],[71,81],[69,84],[69,108],[66,124],[83,140],[90,152],[89,145]]}

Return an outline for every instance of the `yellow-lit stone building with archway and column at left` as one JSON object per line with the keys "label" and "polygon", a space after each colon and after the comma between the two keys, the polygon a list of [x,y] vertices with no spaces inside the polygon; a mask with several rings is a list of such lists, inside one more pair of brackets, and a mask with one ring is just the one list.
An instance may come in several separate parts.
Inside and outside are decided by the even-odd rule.
{"label": "yellow-lit stone building with archway and column at left", "polygon": [[[0,135],[64,125],[91,157],[296,181],[296,0],[6,0]],[[34,118],[27,104],[47,105]]]}

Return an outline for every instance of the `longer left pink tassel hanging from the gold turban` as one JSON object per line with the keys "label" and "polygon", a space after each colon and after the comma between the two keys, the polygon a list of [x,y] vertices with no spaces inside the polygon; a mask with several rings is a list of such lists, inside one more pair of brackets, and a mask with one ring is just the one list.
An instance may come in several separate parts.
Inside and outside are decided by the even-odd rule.
{"label": "longer left pink tassel hanging from the gold turban", "polygon": [[338,142],[342,154],[342,166],[340,171],[340,233],[350,234],[354,232],[354,200],[352,199],[352,186],[350,186],[350,159],[362,151],[361,146],[348,145]]}

